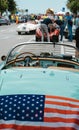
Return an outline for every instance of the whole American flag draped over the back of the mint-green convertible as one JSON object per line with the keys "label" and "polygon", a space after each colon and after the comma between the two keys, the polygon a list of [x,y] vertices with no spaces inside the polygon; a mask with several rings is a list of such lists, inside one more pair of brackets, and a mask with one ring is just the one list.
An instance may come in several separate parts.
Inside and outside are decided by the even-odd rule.
{"label": "whole American flag draped over the back of the mint-green convertible", "polygon": [[0,96],[0,130],[79,130],[79,100],[48,95]]}

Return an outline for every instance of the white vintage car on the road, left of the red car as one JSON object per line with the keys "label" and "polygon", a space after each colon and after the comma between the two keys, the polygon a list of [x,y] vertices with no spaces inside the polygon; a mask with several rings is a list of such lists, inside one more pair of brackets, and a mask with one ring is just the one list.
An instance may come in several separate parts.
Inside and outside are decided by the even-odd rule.
{"label": "white vintage car on the road, left of the red car", "polygon": [[37,28],[37,23],[35,21],[22,23],[18,25],[17,32],[18,34],[29,34],[29,33],[35,33],[35,30]]}

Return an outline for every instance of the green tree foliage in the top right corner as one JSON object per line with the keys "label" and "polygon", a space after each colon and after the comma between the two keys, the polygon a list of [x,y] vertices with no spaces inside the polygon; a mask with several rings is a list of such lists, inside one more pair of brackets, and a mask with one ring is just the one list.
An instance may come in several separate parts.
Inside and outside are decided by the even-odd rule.
{"label": "green tree foliage in the top right corner", "polygon": [[68,0],[67,8],[70,9],[72,13],[77,14],[79,12],[79,0]]}

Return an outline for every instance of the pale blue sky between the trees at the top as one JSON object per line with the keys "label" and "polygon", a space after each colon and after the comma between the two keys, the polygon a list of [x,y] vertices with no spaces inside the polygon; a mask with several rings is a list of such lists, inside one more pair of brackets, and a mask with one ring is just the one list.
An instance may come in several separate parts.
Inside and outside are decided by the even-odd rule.
{"label": "pale blue sky between the trees at the top", "polygon": [[28,13],[45,13],[46,9],[52,8],[55,12],[66,8],[67,0],[15,0],[20,9],[28,9]]}

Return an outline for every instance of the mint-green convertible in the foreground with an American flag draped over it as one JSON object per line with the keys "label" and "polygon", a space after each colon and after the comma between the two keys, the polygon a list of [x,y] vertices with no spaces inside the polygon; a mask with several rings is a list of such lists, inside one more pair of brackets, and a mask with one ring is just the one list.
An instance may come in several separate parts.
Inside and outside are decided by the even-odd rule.
{"label": "mint-green convertible in the foreground with an American flag draped over it", "polygon": [[78,49],[14,46],[0,65],[0,130],[79,130]]}

